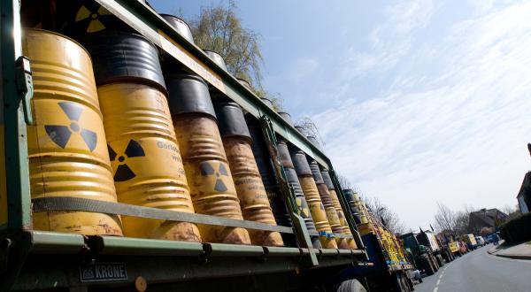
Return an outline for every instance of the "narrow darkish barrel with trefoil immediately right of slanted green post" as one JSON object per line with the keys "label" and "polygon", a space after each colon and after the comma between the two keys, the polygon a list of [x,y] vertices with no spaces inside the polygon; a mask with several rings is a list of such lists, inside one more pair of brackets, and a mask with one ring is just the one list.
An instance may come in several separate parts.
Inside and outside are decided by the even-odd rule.
{"label": "narrow darkish barrel with trefoil immediately right of slanted green post", "polygon": [[[295,200],[299,209],[299,215],[304,219],[304,223],[308,231],[317,233],[318,229],[316,228],[314,219],[312,218],[313,213],[310,209],[311,207],[306,200],[306,196],[301,186],[301,181],[299,181],[299,178],[296,175],[293,162],[289,156],[288,144],[284,141],[279,141],[277,148],[281,157],[282,166],[284,166],[284,171],[286,172],[286,180],[288,181],[289,186],[293,188],[295,193]],[[323,246],[321,245],[319,236],[312,236],[312,244],[316,249],[320,249]]]}

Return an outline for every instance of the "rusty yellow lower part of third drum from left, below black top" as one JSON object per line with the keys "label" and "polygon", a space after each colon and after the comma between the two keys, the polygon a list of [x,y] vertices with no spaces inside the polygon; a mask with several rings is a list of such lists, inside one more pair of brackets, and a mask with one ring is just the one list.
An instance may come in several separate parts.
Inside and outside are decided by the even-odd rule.
{"label": "rusty yellow lower part of third drum from left, below black top", "polygon": [[[216,121],[199,115],[178,115],[173,116],[173,125],[196,212],[243,219]],[[250,244],[243,228],[199,228],[205,242]]]}

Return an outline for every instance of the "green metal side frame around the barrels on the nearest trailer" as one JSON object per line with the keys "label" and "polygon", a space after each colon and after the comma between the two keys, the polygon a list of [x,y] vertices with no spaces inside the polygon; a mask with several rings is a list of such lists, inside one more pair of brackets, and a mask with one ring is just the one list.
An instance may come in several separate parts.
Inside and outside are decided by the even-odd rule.
{"label": "green metal side frame around the barrels on the nearest trailer", "polygon": [[[162,50],[175,57],[175,50],[188,60],[189,69],[203,76],[212,86],[217,86],[229,98],[240,104],[245,111],[256,118],[266,117],[269,134],[275,138],[280,134],[314,158],[319,165],[330,170],[335,187],[344,210],[346,200],[337,184],[333,166],[322,150],[308,141],[304,134],[289,125],[273,109],[264,104],[258,96],[245,88],[234,76],[216,65],[203,50],[188,42],[173,29],[164,19],[149,6],[137,0],[96,0],[119,19],[150,39]],[[3,108],[0,109],[0,120],[4,123],[4,158],[6,171],[6,195],[8,203],[8,221],[0,225],[0,274],[8,280],[0,283],[1,290],[8,290],[30,253],[45,255],[88,254],[98,257],[106,255],[120,257],[136,256],[197,256],[199,257],[275,257],[270,260],[277,263],[273,266],[252,264],[257,271],[276,271],[281,266],[291,270],[298,265],[292,261],[282,261],[281,257],[299,258],[295,263],[301,266],[318,265],[318,267],[348,265],[356,262],[366,254],[363,250],[315,250],[311,244],[302,248],[273,248],[257,246],[235,246],[214,243],[166,242],[159,240],[119,238],[108,236],[82,236],[79,234],[58,234],[32,231],[32,203],[29,189],[28,155],[27,155],[27,123],[33,120],[30,99],[32,97],[31,71],[26,63],[20,63],[22,56],[19,0],[5,0],[0,3],[0,50],[3,85],[0,98]],[[168,45],[170,43],[170,45]],[[179,58],[178,58],[179,59]],[[191,63],[190,63],[191,62]],[[22,65],[20,65],[22,64]],[[17,67],[18,65],[18,67]],[[185,64],[186,65],[186,64]],[[285,179],[285,174],[283,175]],[[310,242],[308,230],[303,219],[296,214],[293,198],[288,197],[292,219],[296,225],[299,242]],[[349,212],[347,212],[349,213]],[[361,238],[348,215],[350,229],[358,247],[363,247]],[[1,222],[0,222],[1,223]],[[6,235],[7,234],[7,235]],[[339,257],[342,257],[341,260]],[[127,257],[129,258],[129,257]],[[306,264],[304,264],[304,258]],[[318,261],[319,258],[319,261]],[[307,261],[307,259],[310,259]],[[9,271],[8,273],[4,273]],[[242,267],[242,271],[244,268]],[[218,273],[219,274],[219,273]]]}

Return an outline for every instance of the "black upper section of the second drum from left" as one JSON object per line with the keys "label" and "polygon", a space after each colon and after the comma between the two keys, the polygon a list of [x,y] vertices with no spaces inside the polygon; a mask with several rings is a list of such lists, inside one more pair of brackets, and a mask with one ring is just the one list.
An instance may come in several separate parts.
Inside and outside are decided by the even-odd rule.
{"label": "black upper section of the second drum from left", "polygon": [[158,50],[142,35],[105,30],[87,35],[81,43],[92,57],[96,85],[134,81],[167,95]]}

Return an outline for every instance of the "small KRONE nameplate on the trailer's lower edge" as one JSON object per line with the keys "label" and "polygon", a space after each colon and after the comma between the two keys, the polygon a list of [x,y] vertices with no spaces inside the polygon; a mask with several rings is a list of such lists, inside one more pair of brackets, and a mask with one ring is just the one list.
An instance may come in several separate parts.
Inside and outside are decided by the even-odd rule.
{"label": "small KRONE nameplate on the trailer's lower edge", "polygon": [[125,263],[94,263],[80,266],[81,282],[127,280]]}

